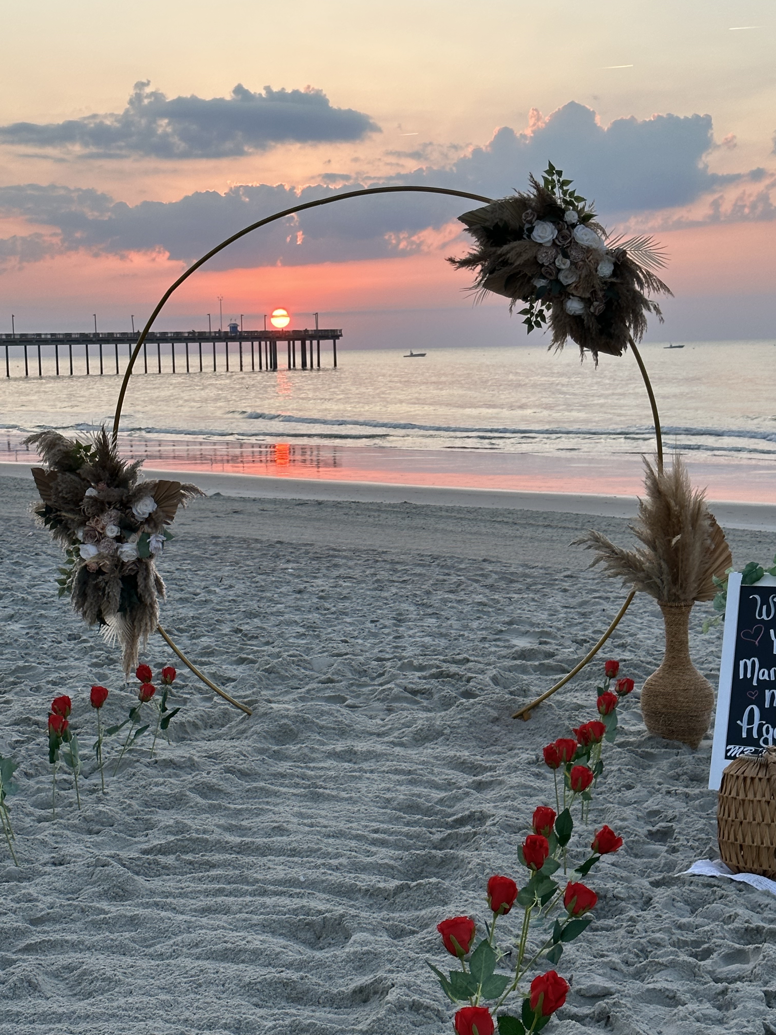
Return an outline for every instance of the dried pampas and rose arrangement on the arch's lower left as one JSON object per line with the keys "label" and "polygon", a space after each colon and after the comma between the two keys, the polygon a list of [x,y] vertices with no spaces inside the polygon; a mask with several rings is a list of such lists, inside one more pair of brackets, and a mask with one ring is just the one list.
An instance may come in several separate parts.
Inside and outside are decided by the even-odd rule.
{"label": "dried pampas and rose arrangement on the arch's lower left", "polygon": [[168,526],[179,506],[203,494],[180,481],[139,480],[143,462],[125,463],[105,427],[88,443],[58,432],[25,442],[47,465],[32,469],[41,501],[34,513],[65,552],[59,595],[118,641],[128,675],[158,624],[165,584],[155,562],[172,538]]}

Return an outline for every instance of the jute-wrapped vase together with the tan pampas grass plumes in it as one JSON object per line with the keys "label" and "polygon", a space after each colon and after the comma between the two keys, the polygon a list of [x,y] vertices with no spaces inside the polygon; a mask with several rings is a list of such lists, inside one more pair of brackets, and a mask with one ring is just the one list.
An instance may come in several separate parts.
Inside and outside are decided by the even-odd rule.
{"label": "jute-wrapped vase together with the tan pampas grass plumes in it", "polygon": [[630,526],[641,545],[621,550],[595,531],[577,542],[595,551],[591,567],[601,564],[609,578],[657,600],[665,623],[665,656],[644,684],[641,713],[650,733],[696,748],[711,722],[714,690],[690,659],[690,611],[695,601],[714,597],[714,576],[722,578],[733,558],[704,492],[690,485],[682,459],[675,455],[667,469],[645,459],[645,467],[646,494]]}

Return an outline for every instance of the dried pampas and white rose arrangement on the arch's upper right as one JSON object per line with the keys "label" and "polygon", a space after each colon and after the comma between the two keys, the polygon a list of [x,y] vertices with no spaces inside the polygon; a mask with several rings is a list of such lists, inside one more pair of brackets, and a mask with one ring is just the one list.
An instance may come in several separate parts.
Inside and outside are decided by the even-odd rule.
{"label": "dried pampas and white rose arrangement on the arch's upper right", "polygon": [[572,181],[549,162],[541,183],[530,177],[531,191],[458,216],[477,246],[456,269],[477,271],[475,288],[518,302],[529,333],[545,325],[553,345],[571,338],[598,360],[598,353],[621,356],[640,341],[647,314],[662,322],[660,306],[647,293],[670,295],[655,271],[665,254],[650,237],[608,239],[592,206]]}

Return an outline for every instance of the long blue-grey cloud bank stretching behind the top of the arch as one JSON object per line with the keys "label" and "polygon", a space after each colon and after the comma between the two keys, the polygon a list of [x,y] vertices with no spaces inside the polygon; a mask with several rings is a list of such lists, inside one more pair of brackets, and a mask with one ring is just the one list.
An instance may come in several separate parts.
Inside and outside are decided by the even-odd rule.
{"label": "long blue-grey cloud bank stretching behind the top of the arch", "polygon": [[[498,130],[487,145],[452,165],[423,167],[389,183],[503,197],[525,187],[528,174],[540,173],[550,158],[573,177],[578,190],[597,199],[609,225],[649,218],[650,213],[667,225],[666,212],[676,215],[682,207],[702,202],[707,205],[706,221],[772,218],[773,206],[764,195],[771,182],[764,180],[763,171],[746,176],[712,174],[705,160],[712,145],[709,116],[618,119],[604,127],[590,109],[569,103],[546,119],[532,113],[525,132]],[[729,194],[755,181],[756,198],[747,195],[745,202],[740,195],[736,204],[712,203],[720,191]],[[351,182],[348,188],[360,185]],[[130,206],[96,190],[35,184],[2,187],[0,214],[27,217],[37,236],[0,242],[0,257],[34,261],[48,246],[51,255],[80,248],[113,255],[157,250],[190,262],[229,234],[274,211],[337,193],[326,183],[301,190],[258,184]],[[262,229],[230,247],[213,266],[301,265],[407,255],[449,240],[443,228],[468,207],[466,201],[434,195],[356,199]]]}

